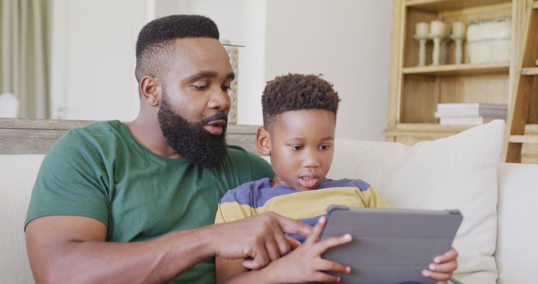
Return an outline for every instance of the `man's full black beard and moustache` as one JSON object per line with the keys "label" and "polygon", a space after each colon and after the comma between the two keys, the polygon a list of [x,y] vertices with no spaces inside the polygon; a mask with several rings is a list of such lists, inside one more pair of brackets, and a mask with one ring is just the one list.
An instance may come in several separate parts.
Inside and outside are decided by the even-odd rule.
{"label": "man's full black beard and moustache", "polygon": [[204,118],[199,123],[190,123],[172,110],[165,94],[157,118],[166,143],[191,164],[210,168],[224,159],[227,152],[226,124],[222,126],[220,135],[211,134],[203,129],[204,125],[214,120],[224,119],[228,122],[228,116],[224,112]]}

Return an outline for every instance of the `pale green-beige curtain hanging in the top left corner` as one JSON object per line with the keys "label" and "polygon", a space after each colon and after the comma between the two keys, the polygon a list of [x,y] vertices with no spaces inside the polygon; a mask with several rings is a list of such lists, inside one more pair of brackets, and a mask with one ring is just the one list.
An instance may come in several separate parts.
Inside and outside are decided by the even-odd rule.
{"label": "pale green-beige curtain hanging in the top left corner", "polygon": [[0,94],[19,100],[19,117],[49,117],[52,0],[0,0]]}

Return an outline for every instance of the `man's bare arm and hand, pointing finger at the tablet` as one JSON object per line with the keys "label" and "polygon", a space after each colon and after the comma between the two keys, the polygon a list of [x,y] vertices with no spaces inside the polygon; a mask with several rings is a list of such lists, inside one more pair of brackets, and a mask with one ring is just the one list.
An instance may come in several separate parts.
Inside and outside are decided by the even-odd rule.
{"label": "man's bare arm and hand, pointing finger at the tablet", "polygon": [[312,228],[262,214],[144,242],[111,243],[105,242],[106,226],[96,219],[46,216],[26,226],[26,247],[38,283],[160,283],[216,255],[252,258],[263,267],[269,255],[289,251],[282,231],[308,236]]}

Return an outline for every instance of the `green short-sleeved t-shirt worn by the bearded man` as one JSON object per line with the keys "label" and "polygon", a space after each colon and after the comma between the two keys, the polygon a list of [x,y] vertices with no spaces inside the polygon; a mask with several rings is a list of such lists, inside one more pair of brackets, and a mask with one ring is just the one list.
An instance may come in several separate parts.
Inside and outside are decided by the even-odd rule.
{"label": "green short-sleeved t-shirt worn by the bearded man", "polygon": [[[271,166],[238,146],[215,168],[169,159],[140,145],[126,124],[96,122],[64,134],[48,151],[26,224],[49,215],[95,218],[107,241],[136,242],[215,222],[218,200],[240,184],[272,177]],[[172,283],[213,283],[209,258]]]}

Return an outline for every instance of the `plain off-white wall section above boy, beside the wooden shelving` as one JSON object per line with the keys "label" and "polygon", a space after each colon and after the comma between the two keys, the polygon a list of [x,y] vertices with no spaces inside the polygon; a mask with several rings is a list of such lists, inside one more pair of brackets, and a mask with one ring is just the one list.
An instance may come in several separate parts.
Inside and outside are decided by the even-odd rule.
{"label": "plain off-white wall section above boy, beside the wooden shelving", "polygon": [[387,125],[389,0],[271,0],[265,79],[323,74],[342,98],[336,136],[384,140]]}

